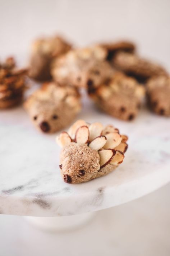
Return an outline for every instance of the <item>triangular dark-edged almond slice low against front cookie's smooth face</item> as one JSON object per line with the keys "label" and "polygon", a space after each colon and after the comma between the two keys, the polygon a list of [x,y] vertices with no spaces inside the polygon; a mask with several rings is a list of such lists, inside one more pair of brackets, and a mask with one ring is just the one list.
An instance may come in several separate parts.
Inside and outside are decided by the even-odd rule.
{"label": "triangular dark-edged almond slice low against front cookie's smooth face", "polygon": [[114,155],[116,154],[116,150],[112,149],[104,149],[98,152],[100,155],[100,168],[105,167],[107,164],[111,162]]}

